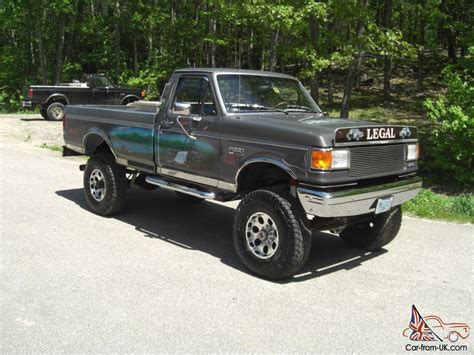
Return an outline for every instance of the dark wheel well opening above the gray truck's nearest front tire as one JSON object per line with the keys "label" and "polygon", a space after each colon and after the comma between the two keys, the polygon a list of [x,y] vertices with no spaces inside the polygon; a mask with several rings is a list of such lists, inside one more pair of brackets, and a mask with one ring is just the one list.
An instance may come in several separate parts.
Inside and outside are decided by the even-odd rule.
{"label": "dark wheel well opening above the gray truck's nearest front tire", "polygon": [[252,163],[237,178],[237,192],[249,192],[261,187],[289,184],[292,177],[281,167],[271,163]]}

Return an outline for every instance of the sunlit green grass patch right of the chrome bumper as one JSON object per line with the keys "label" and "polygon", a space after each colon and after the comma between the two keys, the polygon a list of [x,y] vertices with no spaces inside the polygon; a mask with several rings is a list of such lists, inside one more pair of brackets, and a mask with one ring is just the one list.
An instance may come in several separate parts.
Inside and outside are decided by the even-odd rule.
{"label": "sunlit green grass patch right of the chrome bumper", "polygon": [[474,196],[464,194],[446,196],[430,189],[422,189],[414,199],[402,205],[410,214],[446,221],[474,223]]}

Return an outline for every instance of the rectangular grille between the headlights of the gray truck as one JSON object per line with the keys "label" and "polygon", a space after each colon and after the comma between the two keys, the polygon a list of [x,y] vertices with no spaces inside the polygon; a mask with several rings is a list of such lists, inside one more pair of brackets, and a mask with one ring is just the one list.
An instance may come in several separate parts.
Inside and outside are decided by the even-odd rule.
{"label": "rectangular grille between the headlights of the gray truck", "polygon": [[405,145],[379,145],[350,148],[351,177],[389,175],[405,169]]}

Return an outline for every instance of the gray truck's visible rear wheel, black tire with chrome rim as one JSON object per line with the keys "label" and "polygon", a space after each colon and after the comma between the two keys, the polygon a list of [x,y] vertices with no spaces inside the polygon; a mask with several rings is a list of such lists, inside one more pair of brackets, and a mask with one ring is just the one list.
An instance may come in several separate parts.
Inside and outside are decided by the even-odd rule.
{"label": "gray truck's visible rear wheel, black tire with chrome rim", "polygon": [[120,212],[127,199],[125,168],[110,154],[93,156],[84,169],[84,194],[95,213],[110,216]]}

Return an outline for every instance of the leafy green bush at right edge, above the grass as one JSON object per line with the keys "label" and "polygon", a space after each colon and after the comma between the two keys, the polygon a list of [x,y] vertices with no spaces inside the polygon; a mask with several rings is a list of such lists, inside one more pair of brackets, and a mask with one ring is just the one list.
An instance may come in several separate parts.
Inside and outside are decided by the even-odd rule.
{"label": "leafy green bush at right edge, above the grass", "polygon": [[434,123],[428,138],[424,168],[428,177],[472,190],[474,174],[474,85],[470,74],[459,74],[451,67],[443,71],[446,96],[424,103],[427,117]]}

